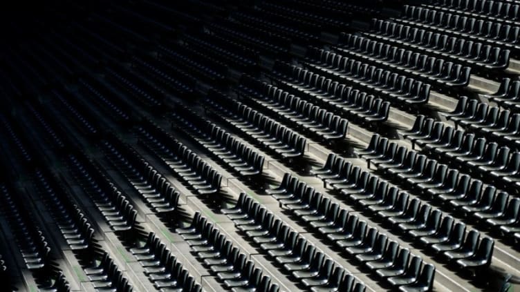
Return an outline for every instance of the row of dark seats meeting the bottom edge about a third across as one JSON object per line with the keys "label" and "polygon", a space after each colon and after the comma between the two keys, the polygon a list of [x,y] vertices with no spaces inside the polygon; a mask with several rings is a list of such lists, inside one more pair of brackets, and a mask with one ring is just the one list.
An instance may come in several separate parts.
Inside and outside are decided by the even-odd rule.
{"label": "row of dark seats meeting the bottom edge about a third across", "polygon": [[175,255],[160,241],[155,233],[148,233],[142,246],[130,249],[130,252],[144,267],[150,282],[160,291],[201,292],[202,287],[196,284],[195,278],[178,262]]}

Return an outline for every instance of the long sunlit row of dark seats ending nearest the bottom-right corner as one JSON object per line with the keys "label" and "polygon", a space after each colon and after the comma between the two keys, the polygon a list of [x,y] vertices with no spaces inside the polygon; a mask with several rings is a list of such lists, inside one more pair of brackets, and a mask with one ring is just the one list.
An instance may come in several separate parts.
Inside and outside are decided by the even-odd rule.
{"label": "long sunlit row of dark seats ending nearest the bottom-right corner", "polygon": [[[343,164],[347,165],[344,166],[344,168],[349,168],[349,162],[344,162],[342,157],[333,157],[331,161],[333,161],[332,165],[336,164],[336,161],[340,163],[343,162]],[[396,208],[397,213],[386,212],[386,210],[378,211],[377,208],[374,212],[378,213],[378,217],[381,217],[384,222],[389,223],[390,226],[400,232],[407,233],[407,235],[416,242],[418,242],[420,236],[423,235],[438,235],[436,233],[439,231],[438,228],[440,228],[441,222],[444,220],[441,217],[449,216],[444,215],[443,212],[438,209],[433,210],[431,205],[421,202],[418,198],[411,199],[411,201],[407,202],[408,195],[391,195],[392,193],[397,193],[396,188],[389,188],[387,182],[384,182],[384,180],[379,182],[380,179],[374,175],[369,175],[368,173],[366,175],[359,175],[359,168],[356,167],[357,166],[351,166],[351,171],[346,171],[346,183],[342,183],[339,186],[342,190],[342,194],[349,195],[354,202],[362,202],[359,205],[366,211],[371,211],[367,206],[370,206],[374,202],[387,205],[388,202],[386,202],[386,199],[392,199],[392,208]],[[316,173],[320,175],[319,173],[326,171],[331,171],[331,175],[335,174],[328,166],[318,169]],[[331,181],[329,180],[328,183],[330,184]],[[402,196],[405,196],[406,199],[400,198]],[[364,199],[364,201],[361,201],[362,199]],[[490,218],[485,217],[486,214],[487,213],[483,212],[483,219]],[[464,224],[463,226],[465,229]],[[480,237],[479,231],[472,230],[470,233],[476,233],[475,236],[477,239]],[[467,238],[471,238],[468,237],[470,233],[467,233]],[[448,239],[445,238],[445,241],[446,240]],[[469,251],[464,254],[458,254],[458,252],[463,249],[467,249],[467,247],[463,247],[462,240],[463,235],[461,235],[458,242],[451,242],[450,244],[446,244],[446,246],[444,246],[445,244],[443,243],[443,249],[436,249],[435,245],[428,247],[429,250],[433,251],[436,255],[443,255],[443,257],[447,257],[450,262],[456,262],[461,269],[485,269],[491,264],[494,246],[493,240],[488,237],[483,237],[480,244],[474,242],[472,246],[470,246],[471,249]],[[452,253],[456,253],[459,256],[452,256]]]}

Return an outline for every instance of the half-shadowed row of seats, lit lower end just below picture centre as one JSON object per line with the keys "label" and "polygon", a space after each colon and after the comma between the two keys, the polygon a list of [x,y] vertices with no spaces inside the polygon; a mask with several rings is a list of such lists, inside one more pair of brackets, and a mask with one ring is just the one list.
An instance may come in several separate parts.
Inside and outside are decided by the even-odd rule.
{"label": "half-shadowed row of seats, lit lower end just below picture centre", "polygon": [[211,155],[230,166],[236,173],[245,177],[261,175],[263,155],[259,155],[223,128],[182,105],[176,105],[172,118],[175,120],[172,127],[193,137]]}

